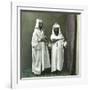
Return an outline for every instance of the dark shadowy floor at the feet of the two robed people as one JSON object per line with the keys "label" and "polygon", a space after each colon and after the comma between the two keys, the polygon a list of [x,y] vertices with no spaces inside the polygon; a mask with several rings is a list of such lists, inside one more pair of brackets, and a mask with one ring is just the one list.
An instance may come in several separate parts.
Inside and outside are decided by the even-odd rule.
{"label": "dark shadowy floor at the feet of the two robed people", "polygon": [[[67,76],[70,75],[69,72],[67,70],[62,70],[62,71],[55,71],[55,72],[51,72],[51,69],[45,69],[45,71],[43,71],[41,73],[41,75],[38,75],[39,77],[49,77],[49,76]],[[32,73],[31,69],[26,69],[24,70],[24,72],[22,73],[22,78],[25,77],[38,77],[37,75],[34,75]]]}

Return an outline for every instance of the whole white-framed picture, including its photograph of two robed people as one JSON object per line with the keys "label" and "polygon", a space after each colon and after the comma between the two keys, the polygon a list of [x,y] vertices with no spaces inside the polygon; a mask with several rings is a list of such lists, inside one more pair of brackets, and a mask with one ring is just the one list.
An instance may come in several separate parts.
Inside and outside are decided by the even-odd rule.
{"label": "whole white-framed picture, including its photograph of two robed people", "polygon": [[11,3],[11,87],[85,83],[86,18],[84,7]]}

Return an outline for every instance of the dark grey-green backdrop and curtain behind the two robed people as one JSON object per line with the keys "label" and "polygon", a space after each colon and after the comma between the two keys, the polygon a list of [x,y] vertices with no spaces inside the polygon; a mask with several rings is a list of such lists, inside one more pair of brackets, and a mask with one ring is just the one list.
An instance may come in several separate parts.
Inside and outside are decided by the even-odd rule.
{"label": "dark grey-green backdrop and curtain behind the two robed people", "polygon": [[[32,68],[32,47],[31,39],[32,33],[35,28],[36,19],[43,20],[44,32],[50,40],[52,25],[58,22],[61,26],[62,33],[68,43],[65,48],[64,70],[68,74],[75,75],[76,67],[76,33],[77,33],[77,14],[75,13],[62,13],[62,12],[41,12],[41,11],[28,11],[21,10],[21,77],[25,70]],[[31,72],[30,72],[31,73]]]}

